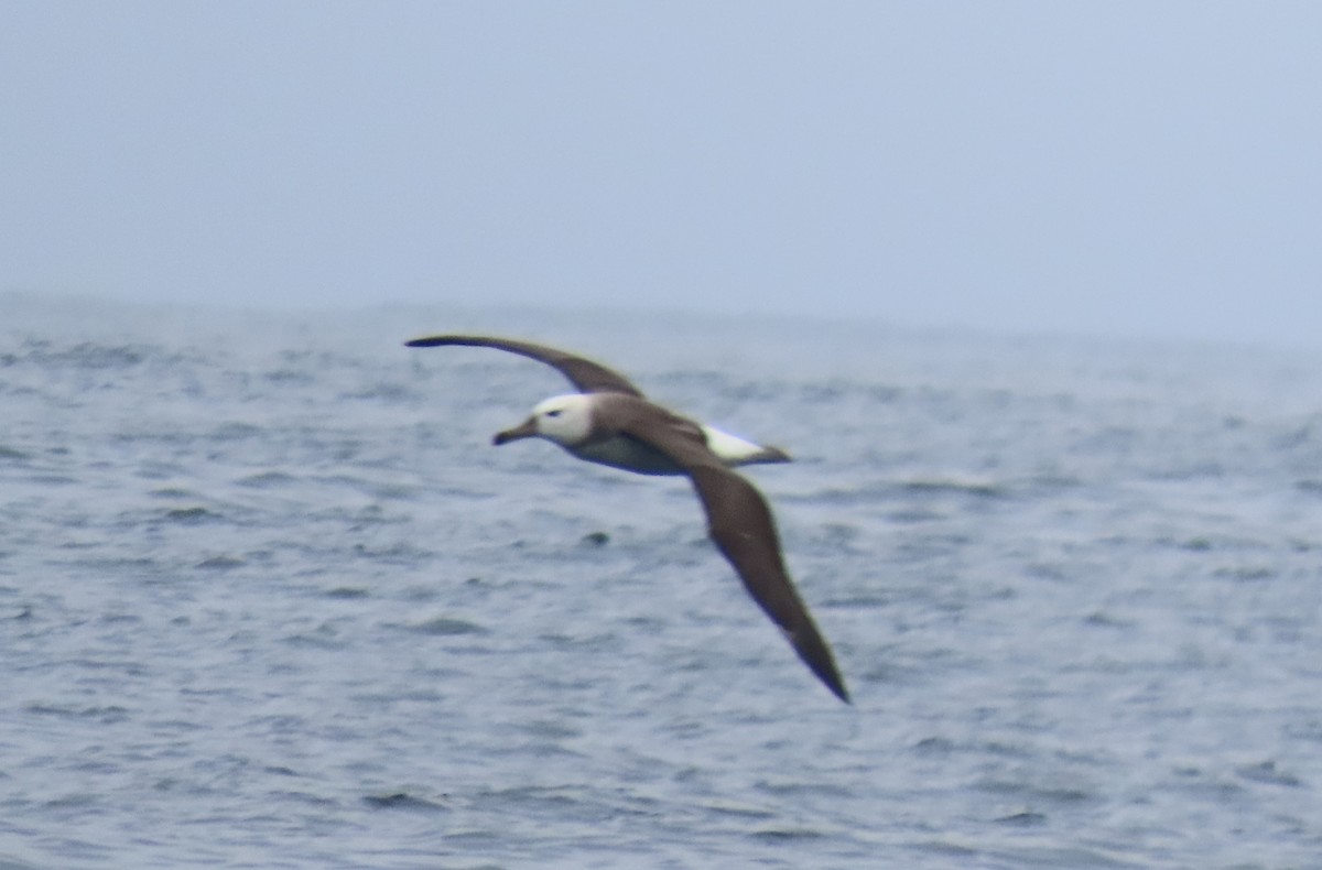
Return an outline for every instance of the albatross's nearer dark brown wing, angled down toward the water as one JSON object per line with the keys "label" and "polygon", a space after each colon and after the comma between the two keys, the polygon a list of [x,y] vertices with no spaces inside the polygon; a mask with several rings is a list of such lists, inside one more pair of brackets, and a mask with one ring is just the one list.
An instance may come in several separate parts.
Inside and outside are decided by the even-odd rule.
{"label": "albatross's nearer dark brown wing, angled down toward the water", "polygon": [[789,580],[776,522],[761,493],[707,450],[701,430],[656,406],[649,409],[656,414],[624,420],[620,428],[662,451],[685,469],[707,512],[707,532],[739,573],[744,588],[785,633],[804,664],[836,697],[849,703],[849,690],[830,647]]}

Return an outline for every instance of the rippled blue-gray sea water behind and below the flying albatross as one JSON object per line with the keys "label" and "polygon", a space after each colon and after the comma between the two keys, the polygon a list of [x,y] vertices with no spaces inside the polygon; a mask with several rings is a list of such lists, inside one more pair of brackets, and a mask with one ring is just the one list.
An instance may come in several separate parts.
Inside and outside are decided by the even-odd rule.
{"label": "rippled blue-gray sea water behind and below the flying albatross", "polygon": [[[490,446],[559,344],[747,473]],[[0,867],[1322,867],[1322,356],[0,297]]]}

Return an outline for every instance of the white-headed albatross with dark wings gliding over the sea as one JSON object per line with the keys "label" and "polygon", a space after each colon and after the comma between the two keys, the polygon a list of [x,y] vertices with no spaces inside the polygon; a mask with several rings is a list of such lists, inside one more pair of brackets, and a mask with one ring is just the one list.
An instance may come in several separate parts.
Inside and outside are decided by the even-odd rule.
{"label": "white-headed albatross with dark wings gliding over the sea", "polygon": [[849,703],[849,690],[785,570],[776,524],[761,493],[731,471],[738,465],[784,463],[776,447],[680,416],[649,402],[624,376],[584,357],[529,341],[490,336],[430,336],[410,348],[494,348],[543,362],[578,390],[554,395],[531,415],[492,439],[508,444],[543,438],[579,459],[641,475],[686,475],[707,514],[707,533],[734,566],[744,588],[784,632],[798,657]]}

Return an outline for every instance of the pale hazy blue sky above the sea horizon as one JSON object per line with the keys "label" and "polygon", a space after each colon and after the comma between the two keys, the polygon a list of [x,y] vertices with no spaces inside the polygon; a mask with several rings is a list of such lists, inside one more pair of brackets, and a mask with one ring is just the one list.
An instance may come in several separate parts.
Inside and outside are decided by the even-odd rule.
{"label": "pale hazy blue sky above the sea horizon", "polygon": [[1317,346],[1319,34],[1311,0],[0,0],[0,292]]}

